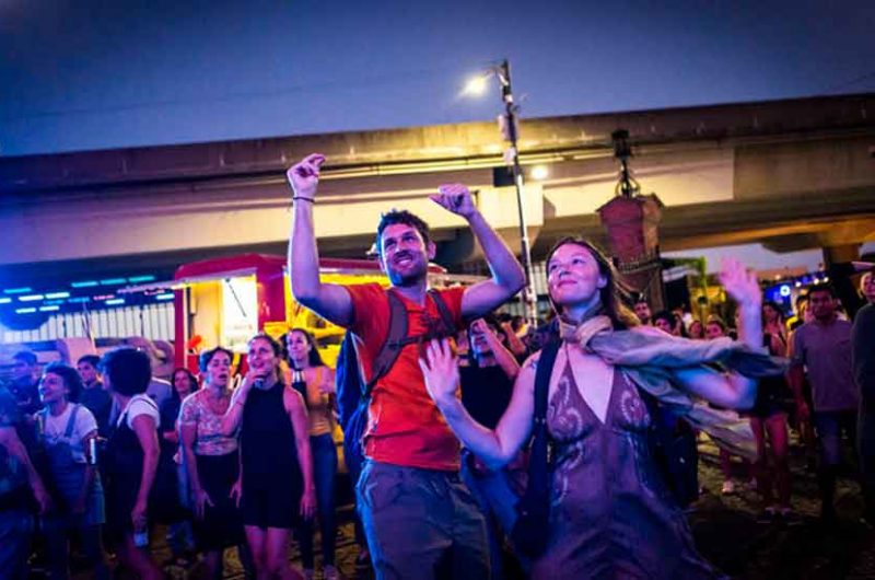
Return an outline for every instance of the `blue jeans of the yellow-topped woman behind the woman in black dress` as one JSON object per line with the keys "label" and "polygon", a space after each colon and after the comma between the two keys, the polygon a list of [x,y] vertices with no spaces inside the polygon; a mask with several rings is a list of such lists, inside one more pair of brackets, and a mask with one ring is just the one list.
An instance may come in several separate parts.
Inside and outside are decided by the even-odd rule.
{"label": "blue jeans of the yellow-topped woman behind the woman in black dress", "polygon": [[[310,438],[313,452],[313,479],[316,484],[316,504],[319,512],[323,566],[335,565],[337,518],[335,515],[335,480],[337,478],[337,448],[331,433]],[[295,530],[301,546],[301,560],[305,569],[313,568],[313,520],[302,520]]]}

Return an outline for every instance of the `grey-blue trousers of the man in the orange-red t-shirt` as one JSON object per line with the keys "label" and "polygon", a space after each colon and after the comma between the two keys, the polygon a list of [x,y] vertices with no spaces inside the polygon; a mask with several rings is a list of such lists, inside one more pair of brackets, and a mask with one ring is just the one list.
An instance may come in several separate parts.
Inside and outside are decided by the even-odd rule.
{"label": "grey-blue trousers of the man in the orange-red t-shirt", "polygon": [[377,580],[482,580],[486,520],[458,472],[366,461],[359,512]]}

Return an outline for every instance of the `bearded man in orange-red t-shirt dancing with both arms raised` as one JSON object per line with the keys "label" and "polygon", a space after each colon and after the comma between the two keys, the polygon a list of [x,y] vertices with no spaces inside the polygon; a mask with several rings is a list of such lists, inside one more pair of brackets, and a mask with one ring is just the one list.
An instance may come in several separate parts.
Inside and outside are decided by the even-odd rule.
{"label": "bearded man in orange-red t-shirt dancing with both arms raised", "polygon": [[[428,225],[408,211],[390,211],[377,227],[380,265],[390,290],[380,285],[319,281],[313,204],[325,158],[312,154],[291,167],[294,217],[289,243],[292,293],[304,306],[350,328],[360,340],[365,376],[388,334],[386,293],[395,292],[408,315],[408,336],[432,336],[440,325],[427,271],[435,245]],[[457,328],[515,294],[525,276],[504,242],[478,211],[467,187],[443,185],[431,199],[464,218],[480,243],[492,278],[468,288],[441,290]],[[425,391],[419,347],[401,349],[374,385],[364,436],[368,457],[357,496],[377,579],[435,578],[439,562],[453,578],[488,578],[486,522],[459,479],[459,445]]]}

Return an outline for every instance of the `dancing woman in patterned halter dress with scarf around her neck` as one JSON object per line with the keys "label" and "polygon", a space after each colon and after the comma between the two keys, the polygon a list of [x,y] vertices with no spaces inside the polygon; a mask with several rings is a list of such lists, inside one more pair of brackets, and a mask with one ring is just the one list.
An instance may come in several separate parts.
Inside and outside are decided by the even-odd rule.
{"label": "dancing woman in patterned halter dress with scarf around her neck", "polygon": [[[563,240],[548,255],[550,299],[561,317],[552,368],[547,430],[555,442],[551,509],[545,552],[532,562],[533,578],[713,578],[696,552],[684,512],[674,502],[649,444],[651,417],[641,392],[645,378],[620,347],[642,357],[637,364],[657,368],[653,357],[684,349],[685,360],[699,341],[672,338],[637,322],[621,305],[610,263],[592,244]],[[760,344],[760,291],[756,278],[737,263],[722,276],[739,303],[742,336],[749,348]],[[599,335],[599,340],[595,340]],[[603,358],[619,352],[626,366]],[[642,348],[634,345],[644,344]],[[595,345],[595,346],[593,346]],[[727,349],[747,347],[730,344]],[[598,350],[598,347],[603,347]],[[517,375],[508,410],[494,430],[476,424],[457,397],[458,371],[450,346],[432,343],[421,362],[427,386],[462,442],[488,465],[508,463],[528,440],[533,427],[535,369],[540,353]],[[723,407],[750,406],[756,381],[724,375],[704,366],[658,367],[672,375],[667,397],[695,395]],[[641,390],[641,391],[640,391]],[[689,401],[689,398],[687,398]],[[688,407],[691,410],[691,408]],[[688,410],[689,413],[689,410]]]}

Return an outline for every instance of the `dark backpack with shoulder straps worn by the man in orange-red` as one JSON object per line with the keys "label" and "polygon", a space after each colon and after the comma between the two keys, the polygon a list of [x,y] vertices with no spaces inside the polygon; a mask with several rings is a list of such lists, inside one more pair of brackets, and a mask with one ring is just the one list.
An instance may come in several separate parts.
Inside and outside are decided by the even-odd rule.
{"label": "dark backpack with shoulder straps worn by the man in orange-red", "polygon": [[337,410],[340,428],[343,431],[343,449],[347,454],[347,464],[350,462],[359,464],[363,459],[361,442],[364,430],[368,427],[368,404],[371,399],[371,391],[373,391],[377,381],[389,372],[401,349],[413,343],[422,344],[432,338],[444,338],[454,334],[453,316],[440,292],[429,290],[428,295],[434,300],[434,304],[438,306],[438,312],[441,315],[440,326],[422,335],[407,336],[407,308],[394,289],[389,289],[386,292],[389,303],[388,333],[371,366],[373,374],[369,382],[362,379],[355,336],[350,330],[347,330],[343,336],[340,352],[337,356],[335,385],[337,387]]}

